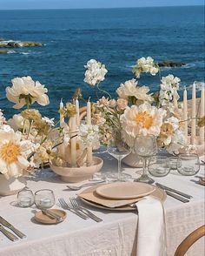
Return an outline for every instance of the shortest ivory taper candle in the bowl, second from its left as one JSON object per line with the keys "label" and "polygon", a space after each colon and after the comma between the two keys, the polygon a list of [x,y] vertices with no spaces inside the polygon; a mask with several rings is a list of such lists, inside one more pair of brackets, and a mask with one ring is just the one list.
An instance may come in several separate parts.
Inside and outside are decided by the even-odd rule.
{"label": "shortest ivory taper candle in the bowl, second from its left", "polygon": [[[70,120],[71,166],[76,166],[76,115]],[[73,137],[75,136],[75,137]],[[72,138],[73,137],[73,138]]]}

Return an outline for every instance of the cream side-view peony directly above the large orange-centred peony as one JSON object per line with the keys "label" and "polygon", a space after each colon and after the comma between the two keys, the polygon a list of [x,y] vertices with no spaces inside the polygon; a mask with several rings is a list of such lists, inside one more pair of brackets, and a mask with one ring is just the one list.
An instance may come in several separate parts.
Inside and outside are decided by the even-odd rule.
{"label": "cream side-view peony directly above the large orange-centred peony", "polygon": [[124,84],[120,84],[120,87],[117,88],[116,93],[120,98],[129,99],[129,97],[135,97],[143,101],[152,102],[153,98],[148,95],[149,87],[148,86],[137,86],[136,79],[131,79],[126,81]]}

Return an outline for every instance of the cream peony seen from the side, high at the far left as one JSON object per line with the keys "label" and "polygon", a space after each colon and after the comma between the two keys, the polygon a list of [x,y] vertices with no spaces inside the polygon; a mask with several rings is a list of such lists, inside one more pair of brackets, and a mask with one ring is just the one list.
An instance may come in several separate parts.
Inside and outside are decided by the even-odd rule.
{"label": "cream peony seen from the side, high at the far left", "polygon": [[6,97],[15,105],[15,109],[20,109],[25,104],[37,102],[41,105],[50,103],[46,95],[48,90],[38,81],[33,81],[31,77],[16,77],[11,80],[12,87],[6,88]]}

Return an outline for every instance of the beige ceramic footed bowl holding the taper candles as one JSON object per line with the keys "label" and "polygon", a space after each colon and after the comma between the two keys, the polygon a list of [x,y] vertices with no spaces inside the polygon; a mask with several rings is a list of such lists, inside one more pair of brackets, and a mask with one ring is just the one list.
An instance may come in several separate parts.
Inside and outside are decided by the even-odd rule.
{"label": "beige ceramic footed bowl holding the taper candles", "polygon": [[92,165],[80,166],[80,167],[63,167],[56,166],[55,162],[50,164],[50,168],[53,172],[56,172],[64,182],[80,182],[86,179],[92,178],[92,175],[99,172],[102,168],[102,158],[93,157]]}

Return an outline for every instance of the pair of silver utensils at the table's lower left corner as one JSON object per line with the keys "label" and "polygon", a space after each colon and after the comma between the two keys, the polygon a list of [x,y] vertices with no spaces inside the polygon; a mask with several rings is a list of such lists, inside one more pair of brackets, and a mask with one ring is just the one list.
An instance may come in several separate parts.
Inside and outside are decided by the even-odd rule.
{"label": "pair of silver utensils at the table's lower left corner", "polygon": [[[4,226],[9,228],[12,232],[14,232],[17,235],[5,229]],[[3,217],[1,216],[0,216],[0,231],[3,232],[3,234],[11,241],[17,241],[18,240],[17,237],[19,237],[20,239],[26,238],[26,235],[24,235],[23,232],[20,232],[19,230],[17,230],[16,227],[12,226],[7,220],[3,219]]]}

